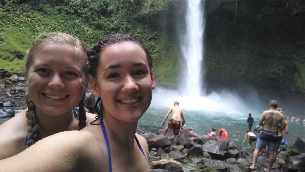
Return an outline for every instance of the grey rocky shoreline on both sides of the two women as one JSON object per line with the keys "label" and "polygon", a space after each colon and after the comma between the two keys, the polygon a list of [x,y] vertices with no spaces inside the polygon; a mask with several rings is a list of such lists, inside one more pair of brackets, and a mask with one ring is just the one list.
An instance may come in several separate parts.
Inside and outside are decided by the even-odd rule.
{"label": "grey rocky shoreline on both sides of the two women", "polygon": [[[15,116],[15,109],[25,108],[27,87],[23,73],[0,69],[0,76],[0,119],[7,119]],[[92,109],[90,105],[87,108]],[[171,132],[163,136],[164,129],[151,133],[138,128],[137,133],[147,140],[149,146],[151,171],[251,171],[249,166],[254,148],[240,147],[233,141],[210,139],[207,135],[189,131],[182,130],[174,139]],[[267,165],[262,150],[253,171],[264,171]],[[272,170],[305,171],[305,137],[297,138],[291,147],[281,146]]]}

